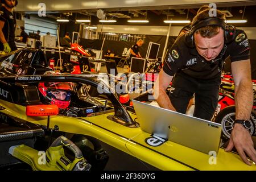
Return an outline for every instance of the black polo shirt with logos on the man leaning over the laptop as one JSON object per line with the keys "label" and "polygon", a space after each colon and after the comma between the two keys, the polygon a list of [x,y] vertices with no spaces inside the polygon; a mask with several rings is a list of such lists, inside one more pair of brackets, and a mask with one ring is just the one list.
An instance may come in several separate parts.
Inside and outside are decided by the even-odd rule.
{"label": "black polo shirt with logos on the man leaning over the laptop", "polygon": [[185,73],[193,78],[210,79],[221,75],[220,65],[230,56],[231,62],[250,59],[250,44],[244,31],[236,30],[234,40],[225,44],[216,59],[206,61],[196,48],[189,48],[185,42],[185,34],[176,42],[164,60],[163,71],[170,76]]}

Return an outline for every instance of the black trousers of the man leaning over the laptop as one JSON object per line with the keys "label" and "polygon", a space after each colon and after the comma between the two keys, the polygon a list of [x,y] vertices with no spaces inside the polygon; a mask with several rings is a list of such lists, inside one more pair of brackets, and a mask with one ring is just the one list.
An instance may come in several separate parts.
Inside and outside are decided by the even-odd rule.
{"label": "black trousers of the man leaning over the laptop", "polygon": [[169,93],[171,103],[179,113],[185,114],[189,100],[195,93],[193,116],[210,121],[218,104],[220,83],[220,77],[201,80],[185,75],[185,73],[176,73]]}

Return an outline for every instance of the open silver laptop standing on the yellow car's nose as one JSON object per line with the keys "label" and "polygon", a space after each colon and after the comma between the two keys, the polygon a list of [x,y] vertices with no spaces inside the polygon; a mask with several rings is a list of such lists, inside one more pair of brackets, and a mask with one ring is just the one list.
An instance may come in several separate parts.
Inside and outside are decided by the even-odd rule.
{"label": "open silver laptop standing on the yellow car's nose", "polygon": [[133,100],[142,131],[209,154],[218,153],[221,125]]}

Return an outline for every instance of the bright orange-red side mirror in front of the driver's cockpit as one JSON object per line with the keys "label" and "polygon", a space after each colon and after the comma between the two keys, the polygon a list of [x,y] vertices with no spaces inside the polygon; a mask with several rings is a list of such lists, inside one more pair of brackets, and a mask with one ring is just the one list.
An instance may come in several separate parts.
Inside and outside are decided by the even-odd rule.
{"label": "bright orange-red side mirror in front of the driver's cockpit", "polygon": [[59,107],[56,105],[31,105],[26,107],[28,116],[49,116],[59,114]]}

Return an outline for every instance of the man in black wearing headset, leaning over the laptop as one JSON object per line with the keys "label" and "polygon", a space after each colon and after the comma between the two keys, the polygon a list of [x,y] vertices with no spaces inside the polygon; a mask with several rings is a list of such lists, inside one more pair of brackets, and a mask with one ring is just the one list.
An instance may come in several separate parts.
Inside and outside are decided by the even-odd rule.
{"label": "man in black wearing headset, leaning over the laptop", "polygon": [[[256,163],[256,151],[243,121],[253,107],[250,44],[244,31],[225,23],[225,15],[216,10],[201,11],[192,20],[191,31],[179,36],[164,60],[154,88],[160,107],[185,113],[195,93],[194,116],[210,120],[218,102],[218,89],[224,60],[230,56],[235,84],[236,121],[226,151],[235,146],[248,165],[245,152]],[[172,80],[174,78],[174,80]],[[172,81],[169,97],[166,88]]]}

